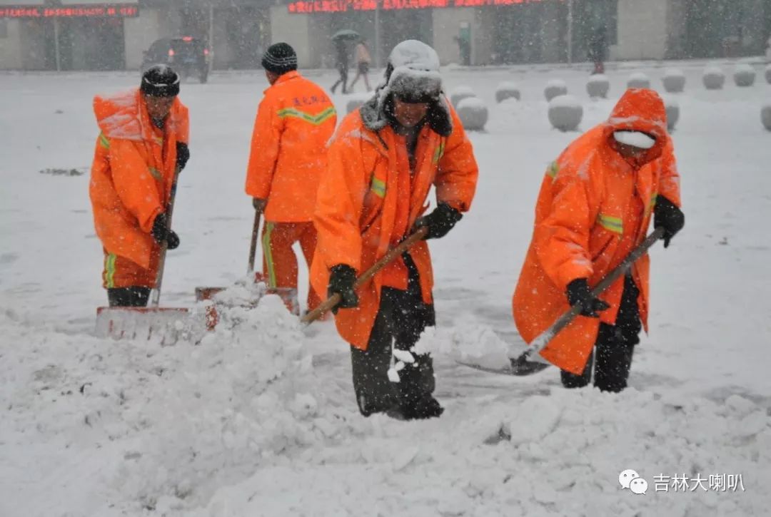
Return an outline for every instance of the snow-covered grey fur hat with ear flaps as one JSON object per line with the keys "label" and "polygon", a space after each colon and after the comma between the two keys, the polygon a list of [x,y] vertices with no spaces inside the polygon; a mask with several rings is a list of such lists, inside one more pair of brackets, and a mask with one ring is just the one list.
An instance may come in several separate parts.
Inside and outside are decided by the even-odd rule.
{"label": "snow-covered grey fur hat with ear flaps", "polygon": [[365,126],[373,131],[385,127],[393,112],[394,97],[403,102],[428,103],[426,122],[431,129],[441,136],[453,132],[439,75],[439,55],[429,45],[408,39],[393,48],[385,66],[384,82],[360,110]]}

